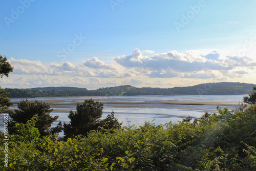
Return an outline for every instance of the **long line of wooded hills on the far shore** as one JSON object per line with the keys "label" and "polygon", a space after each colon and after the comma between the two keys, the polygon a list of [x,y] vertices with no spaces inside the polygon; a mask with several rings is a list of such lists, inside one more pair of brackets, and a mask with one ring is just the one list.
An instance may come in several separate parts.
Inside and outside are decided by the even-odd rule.
{"label": "long line of wooded hills on the far shore", "polygon": [[10,97],[61,97],[61,96],[138,96],[138,95],[232,95],[249,94],[256,84],[240,82],[212,82],[189,87],[136,88],[130,85],[87,90],[75,87],[47,87],[8,89]]}

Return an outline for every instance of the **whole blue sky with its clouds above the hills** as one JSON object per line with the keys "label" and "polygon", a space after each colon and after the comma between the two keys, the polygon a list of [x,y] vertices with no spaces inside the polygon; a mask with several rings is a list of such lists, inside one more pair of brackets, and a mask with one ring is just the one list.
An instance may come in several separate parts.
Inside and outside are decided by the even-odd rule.
{"label": "whole blue sky with its clouds above the hills", "polygon": [[1,1],[2,88],[256,83],[256,1]]}

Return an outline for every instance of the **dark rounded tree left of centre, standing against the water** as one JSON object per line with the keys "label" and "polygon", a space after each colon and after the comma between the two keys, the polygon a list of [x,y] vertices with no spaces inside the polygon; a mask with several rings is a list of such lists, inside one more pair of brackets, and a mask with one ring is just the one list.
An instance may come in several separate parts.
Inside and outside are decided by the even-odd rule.
{"label": "dark rounded tree left of centre, standing against the water", "polygon": [[87,136],[91,130],[97,130],[98,126],[103,126],[105,129],[120,128],[114,112],[101,120],[102,110],[103,103],[93,99],[84,100],[81,104],[77,103],[76,112],[71,110],[68,115],[70,123],[63,124],[65,138]]}

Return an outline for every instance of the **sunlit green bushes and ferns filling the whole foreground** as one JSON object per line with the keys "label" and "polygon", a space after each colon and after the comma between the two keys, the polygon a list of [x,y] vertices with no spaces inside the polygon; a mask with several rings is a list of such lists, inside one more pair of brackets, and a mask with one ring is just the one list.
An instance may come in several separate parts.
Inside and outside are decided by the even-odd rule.
{"label": "sunlit green bushes and ferns filling the whole foreground", "polygon": [[[40,138],[37,115],[16,123],[2,170],[255,170],[256,105],[218,108],[189,122],[92,130],[87,137]],[[4,145],[0,147],[4,163]]]}

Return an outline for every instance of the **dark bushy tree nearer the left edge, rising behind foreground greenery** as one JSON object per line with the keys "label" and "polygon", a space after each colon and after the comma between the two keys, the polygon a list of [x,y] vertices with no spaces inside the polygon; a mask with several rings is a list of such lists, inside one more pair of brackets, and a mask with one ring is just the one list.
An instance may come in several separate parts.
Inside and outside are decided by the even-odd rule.
{"label": "dark bushy tree nearer the left edge, rising behind foreground greenery", "polygon": [[[18,109],[14,110],[14,113],[10,113],[10,117],[13,119],[10,122],[10,127],[13,127],[15,123],[27,123],[28,120],[31,120],[36,114],[38,115],[38,121],[35,124],[35,127],[38,129],[41,136],[49,135],[50,133],[58,133],[61,131],[62,126],[60,123],[57,127],[53,128],[49,132],[51,124],[58,119],[59,116],[52,117],[50,113],[53,110],[49,103],[37,101],[30,102],[27,99],[18,102]],[[57,129],[57,130],[56,130]],[[14,130],[10,129],[11,133]]]}

